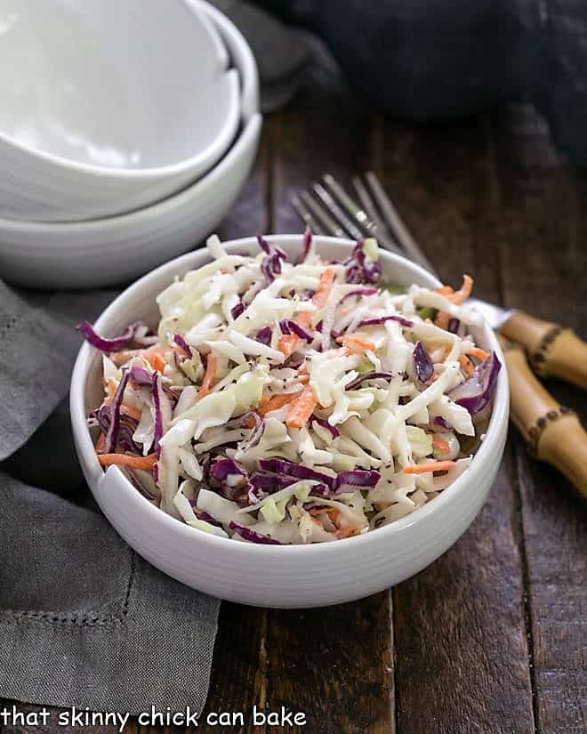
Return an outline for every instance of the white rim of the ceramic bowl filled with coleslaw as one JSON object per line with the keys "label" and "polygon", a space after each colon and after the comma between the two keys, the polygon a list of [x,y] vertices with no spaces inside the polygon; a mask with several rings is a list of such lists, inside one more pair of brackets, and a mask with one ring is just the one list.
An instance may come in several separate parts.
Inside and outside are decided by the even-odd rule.
{"label": "white rim of the ceramic bowl filled with coleslaw", "polygon": [[[296,236],[296,235],[268,235],[267,238],[269,238],[272,242],[275,242],[276,244],[279,244],[280,242],[284,241],[290,241],[292,239],[299,239],[300,243],[302,242],[302,235]],[[342,239],[342,238],[334,238],[334,237],[316,237],[315,242],[318,245],[318,248],[320,244],[324,243],[333,243],[338,246],[342,246],[343,248],[350,250],[352,246],[354,246],[354,242],[352,242],[350,239]],[[230,240],[227,243],[223,243],[223,246],[228,252],[233,251],[239,251],[247,248],[252,248],[256,245],[256,238],[241,238],[236,240]],[[143,276],[143,278],[140,278],[136,283],[133,284],[133,286],[130,286],[127,288],[122,294],[118,295],[117,298],[109,305],[109,307],[102,312],[99,319],[97,319],[95,323],[95,327],[98,332],[100,332],[101,323],[103,321],[107,321],[109,317],[118,311],[119,303],[121,301],[124,301],[126,294],[132,294],[134,291],[140,291],[142,286],[142,281],[146,278],[149,278],[153,274],[157,273],[159,270],[167,270],[169,269],[171,263],[174,263],[178,266],[178,270],[181,270],[181,266],[184,263],[190,262],[195,253],[188,253],[181,255],[181,257],[175,258],[174,260],[165,263],[165,265],[161,265],[156,270],[151,270],[150,273]],[[396,262],[396,263],[403,263],[408,262],[409,266],[416,270],[416,272],[422,276],[423,279],[429,279],[432,278],[435,281],[435,284],[437,286],[440,286],[441,283],[438,281],[438,278],[435,278],[432,276],[427,270],[424,270],[421,266],[414,264],[414,262],[409,262],[406,260],[406,258],[402,257],[401,255],[390,253],[389,251],[383,251],[382,257],[390,262]],[[198,266],[199,267],[199,266]],[[210,533],[202,532],[201,530],[197,530],[196,528],[190,528],[185,523],[181,522],[180,520],[176,520],[171,515],[168,515],[166,512],[163,512],[163,510],[160,510],[155,505],[151,504],[149,500],[142,496],[140,492],[136,488],[133,487],[132,483],[126,479],[125,475],[120,472],[118,467],[116,465],[109,466],[107,472],[119,472],[122,476],[124,481],[125,490],[128,492],[132,492],[133,495],[139,496],[141,498],[142,503],[144,504],[145,512],[149,512],[150,515],[157,514],[158,521],[165,524],[166,527],[169,529],[170,533],[173,532],[180,532],[184,537],[189,538],[193,537],[193,533],[198,533],[198,541],[201,541],[203,543],[207,543],[209,545],[210,553],[213,553],[214,548],[220,548],[220,547],[226,547],[226,544],[229,543],[231,545],[238,543],[240,546],[242,546],[242,550],[240,553],[243,553],[244,556],[258,556],[262,557],[265,555],[275,555],[275,553],[297,553],[300,555],[306,555],[310,556],[313,553],[337,553],[337,548],[340,549],[339,544],[344,543],[345,548],[349,549],[350,544],[368,544],[368,543],[376,543],[377,538],[382,538],[383,534],[391,535],[393,533],[401,533],[403,531],[406,531],[407,528],[412,528],[414,526],[417,526],[421,520],[424,520],[427,516],[430,515],[431,512],[436,512],[436,509],[438,509],[442,504],[446,504],[451,500],[451,498],[460,493],[463,489],[466,488],[466,485],[471,480],[471,472],[482,472],[486,463],[488,461],[491,461],[491,453],[492,453],[492,444],[499,439],[499,427],[503,424],[504,421],[507,421],[508,419],[508,406],[509,406],[509,387],[508,387],[508,379],[505,369],[505,362],[503,359],[503,352],[502,349],[495,338],[495,334],[493,330],[488,327],[485,324],[486,331],[489,335],[489,346],[491,349],[495,351],[497,354],[498,359],[502,363],[502,370],[500,371],[500,374],[497,379],[497,386],[495,389],[495,395],[493,400],[493,409],[491,413],[491,417],[489,419],[489,423],[486,428],[486,434],[483,441],[481,441],[480,446],[478,447],[478,450],[476,454],[473,456],[473,459],[470,463],[469,468],[466,472],[463,472],[460,477],[458,477],[456,480],[454,480],[453,484],[451,484],[446,489],[443,489],[442,492],[436,497],[434,497],[430,502],[424,504],[422,507],[418,508],[417,510],[414,510],[414,512],[411,512],[409,515],[406,515],[406,517],[400,518],[399,520],[394,520],[389,525],[384,525],[382,528],[375,528],[374,530],[369,530],[363,535],[360,536],[353,536],[349,538],[342,538],[341,540],[337,540],[331,543],[315,543],[315,544],[297,544],[297,545],[290,545],[290,544],[284,544],[282,546],[279,546],[277,544],[255,544],[255,543],[244,543],[241,541],[233,540],[231,538],[223,538],[219,536],[214,536]],[[84,405],[84,391],[85,391],[85,384],[81,383],[82,380],[82,374],[81,371],[84,369],[84,362],[86,359],[90,356],[90,350],[92,347],[90,347],[89,344],[84,343],[79,351],[79,354],[76,359],[76,365],[74,367],[74,374],[72,378],[72,397],[71,397],[71,407],[72,407],[72,421],[75,422],[74,424],[74,430],[76,430],[76,423],[77,425],[84,425],[85,431],[83,440],[86,444],[86,447],[89,448],[92,452],[94,450],[93,448],[93,442],[92,437],[90,435],[89,430],[87,429],[87,426],[85,425],[85,405]],[[78,413],[82,413],[82,415],[77,415]],[[82,439],[82,437],[80,437]],[[95,461],[94,471],[96,472],[97,476],[100,477],[105,472],[103,472],[101,465],[98,464],[98,461]],[[157,518],[155,518],[157,520]]]}

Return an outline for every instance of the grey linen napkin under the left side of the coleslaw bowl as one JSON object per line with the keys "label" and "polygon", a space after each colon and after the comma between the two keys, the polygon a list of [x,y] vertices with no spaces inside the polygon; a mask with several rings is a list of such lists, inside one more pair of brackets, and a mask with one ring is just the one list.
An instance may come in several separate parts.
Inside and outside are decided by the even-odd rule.
{"label": "grey linen napkin under the left side of the coleslaw bowl", "polygon": [[17,294],[0,281],[0,698],[201,711],[220,602],[117,536],[70,434],[75,325],[114,295]]}

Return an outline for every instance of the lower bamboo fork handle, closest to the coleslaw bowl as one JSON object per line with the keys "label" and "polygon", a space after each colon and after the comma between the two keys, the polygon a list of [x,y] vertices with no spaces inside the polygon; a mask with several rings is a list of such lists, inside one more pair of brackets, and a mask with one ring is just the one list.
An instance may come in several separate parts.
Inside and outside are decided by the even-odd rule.
{"label": "lower bamboo fork handle, closest to the coleslaw bowl", "polygon": [[565,474],[587,500],[587,433],[570,408],[536,380],[517,344],[500,337],[510,379],[511,419],[539,459]]}

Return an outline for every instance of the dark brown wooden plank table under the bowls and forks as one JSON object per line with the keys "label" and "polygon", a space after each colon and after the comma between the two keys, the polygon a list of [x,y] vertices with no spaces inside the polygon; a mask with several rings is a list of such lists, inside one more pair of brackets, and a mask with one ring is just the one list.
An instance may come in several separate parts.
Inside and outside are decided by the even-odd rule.
{"label": "dark brown wooden plank table under the bowls and forks", "polygon": [[[289,204],[298,187],[369,168],[445,282],[470,272],[479,296],[587,336],[587,187],[524,107],[404,125],[318,69],[266,118],[253,175],[220,235],[300,231]],[[548,387],[584,422],[584,394]],[[512,431],[477,520],[416,577],[330,609],[222,604],[205,711],[286,706],[308,723],[197,730],[583,734],[586,519],[567,482]],[[115,728],[84,729],[104,731]]]}

